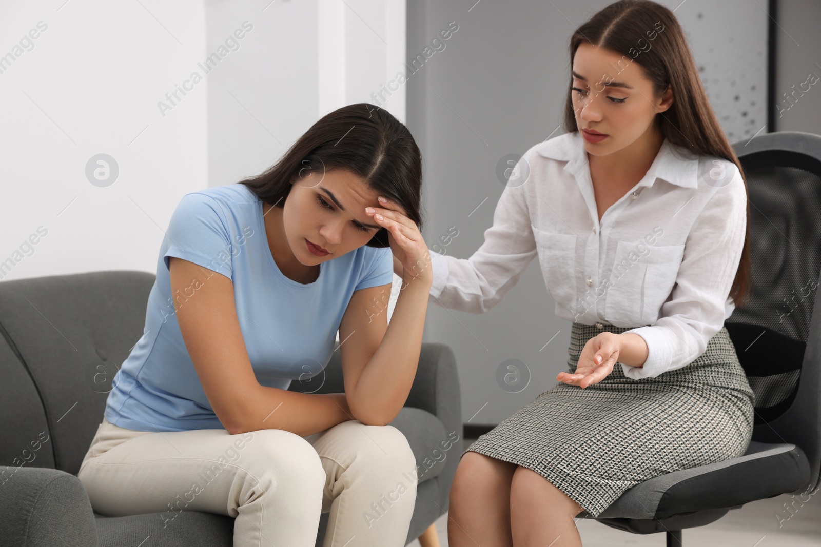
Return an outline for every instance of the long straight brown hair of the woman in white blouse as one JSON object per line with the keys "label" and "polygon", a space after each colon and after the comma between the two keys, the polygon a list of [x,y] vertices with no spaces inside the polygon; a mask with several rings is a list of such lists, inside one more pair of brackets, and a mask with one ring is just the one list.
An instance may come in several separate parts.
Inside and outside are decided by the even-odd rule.
{"label": "long straight brown hair of the woman in white blouse", "polygon": [[[614,2],[580,25],[571,36],[571,66],[581,43],[589,43],[626,56],[626,62],[639,63],[644,68],[645,77],[653,83],[656,99],[662,97],[669,85],[673,103],[666,112],[656,114],[654,123],[658,130],[672,144],[699,155],[722,157],[735,163],[741,172],[745,192],[747,191],[744,169],[710,106],[693,55],[672,11],[650,0]],[[644,46],[641,45],[643,43]],[[650,48],[645,50],[647,44],[650,44]],[[571,87],[572,80],[567,86],[564,119],[564,130],[567,132],[578,130]],[[750,294],[750,267],[748,199],[744,247],[736,278],[730,289],[730,296],[736,306],[740,306]]]}

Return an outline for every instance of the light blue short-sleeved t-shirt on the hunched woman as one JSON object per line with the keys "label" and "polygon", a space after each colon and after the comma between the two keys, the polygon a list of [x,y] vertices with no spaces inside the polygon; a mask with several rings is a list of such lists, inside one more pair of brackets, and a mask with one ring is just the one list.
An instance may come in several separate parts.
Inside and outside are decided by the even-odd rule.
{"label": "light blue short-sleeved t-shirt on the hunched woman", "polygon": [[[224,429],[182,340],[169,257],[218,272],[212,276],[231,278],[236,315],[257,381],[283,390],[291,380],[305,381],[322,373],[354,291],[392,282],[390,248],[368,246],[321,262],[319,277],[312,283],[287,278],[268,247],[262,207],[262,201],[240,184],[181,198],[159,250],[143,335],[112,381],[104,414],[108,422],[137,431]],[[200,282],[178,291],[177,307],[196,298]]]}

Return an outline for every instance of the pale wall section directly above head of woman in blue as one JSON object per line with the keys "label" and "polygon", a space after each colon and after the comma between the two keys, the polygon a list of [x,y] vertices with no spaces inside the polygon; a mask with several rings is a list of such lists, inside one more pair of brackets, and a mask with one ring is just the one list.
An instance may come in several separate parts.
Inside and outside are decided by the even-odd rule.
{"label": "pale wall section directly above head of woman in blue", "polygon": [[[209,51],[242,21],[253,27],[209,75],[209,186],[265,171],[314,121],[346,104],[378,104],[405,121],[404,85],[390,96],[383,92],[384,102],[372,96],[402,70],[404,0],[268,7],[212,0],[206,2],[206,19]],[[396,303],[393,293],[388,318]]]}

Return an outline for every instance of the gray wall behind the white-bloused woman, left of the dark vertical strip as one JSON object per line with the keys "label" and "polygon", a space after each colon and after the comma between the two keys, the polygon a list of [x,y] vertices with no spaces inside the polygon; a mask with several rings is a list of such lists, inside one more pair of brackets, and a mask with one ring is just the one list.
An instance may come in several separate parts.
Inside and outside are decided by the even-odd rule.
{"label": "gray wall behind the white-bloused woman, left of the dark vertical strip", "polygon": [[[673,9],[680,2],[663,3]],[[469,258],[482,244],[502,194],[498,161],[562,134],[568,39],[575,25],[608,3],[408,2],[409,58],[450,21],[459,25],[408,84],[407,124],[424,156],[429,248],[450,226],[459,235],[445,247],[448,254]],[[766,123],[768,16],[748,0],[717,4],[687,0],[676,15],[713,108],[735,142]],[[424,340],[446,343],[456,353],[466,422],[498,424],[555,385],[566,368],[571,323],[553,315],[554,305],[534,260],[487,313],[429,306]],[[516,394],[496,381],[499,365],[511,358],[530,371],[529,384]]]}

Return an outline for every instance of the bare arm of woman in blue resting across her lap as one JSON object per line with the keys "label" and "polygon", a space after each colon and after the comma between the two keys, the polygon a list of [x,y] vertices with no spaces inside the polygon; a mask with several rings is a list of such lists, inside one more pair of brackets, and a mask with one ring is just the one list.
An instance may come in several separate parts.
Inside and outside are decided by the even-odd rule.
{"label": "bare arm of woman in blue resting across her lap", "polygon": [[[222,426],[231,433],[281,429],[307,436],[354,419],[345,394],[304,394],[259,385],[236,316],[232,280],[169,259],[177,322],[197,376]],[[193,294],[191,294],[193,290]]]}

